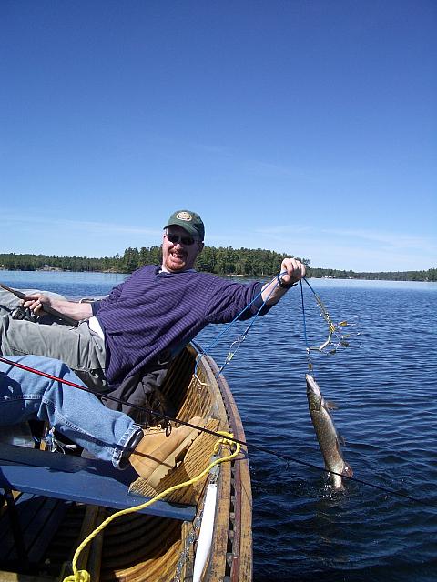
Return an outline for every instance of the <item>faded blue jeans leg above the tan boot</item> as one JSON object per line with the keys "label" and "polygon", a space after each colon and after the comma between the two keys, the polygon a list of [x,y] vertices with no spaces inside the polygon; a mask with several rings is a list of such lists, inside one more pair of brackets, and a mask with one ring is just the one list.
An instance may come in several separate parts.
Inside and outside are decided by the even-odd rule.
{"label": "faded blue jeans leg above the tan boot", "polygon": [[[43,356],[7,356],[10,361],[85,386],[66,364]],[[109,410],[94,394],[0,362],[0,425],[31,419],[50,426],[95,457],[127,467],[127,454],[143,435],[132,418]]]}

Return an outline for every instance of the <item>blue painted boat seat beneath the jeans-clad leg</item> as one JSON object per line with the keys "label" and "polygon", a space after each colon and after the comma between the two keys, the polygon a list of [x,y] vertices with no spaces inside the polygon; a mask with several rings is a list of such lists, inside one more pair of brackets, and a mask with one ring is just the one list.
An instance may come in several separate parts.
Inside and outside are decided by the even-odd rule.
{"label": "blue painted boat seat beneath the jeans-clad leg", "polygon": [[[128,492],[136,478],[133,469],[119,471],[105,461],[0,443],[0,487],[5,490],[126,509],[149,499]],[[157,501],[141,513],[192,521],[196,507]]]}

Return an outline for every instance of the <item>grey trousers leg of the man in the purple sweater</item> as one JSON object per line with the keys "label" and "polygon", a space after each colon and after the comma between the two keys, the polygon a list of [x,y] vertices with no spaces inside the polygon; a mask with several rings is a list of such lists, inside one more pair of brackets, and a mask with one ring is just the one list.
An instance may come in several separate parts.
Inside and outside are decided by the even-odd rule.
{"label": "grey trousers leg of the man in the purple sweater", "polygon": [[0,353],[46,356],[62,360],[92,389],[105,390],[105,342],[88,324],[45,326],[0,316]]}

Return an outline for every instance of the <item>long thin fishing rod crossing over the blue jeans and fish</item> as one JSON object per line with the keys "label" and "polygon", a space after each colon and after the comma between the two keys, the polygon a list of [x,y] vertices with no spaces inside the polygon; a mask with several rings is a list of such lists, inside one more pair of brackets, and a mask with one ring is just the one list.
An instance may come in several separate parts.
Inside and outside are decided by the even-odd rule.
{"label": "long thin fishing rod crossing over the blue jeans and fish", "polygon": [[[53,376],[52,374],[47,374],[46,372],[42,372],[41,370],[37,370],[36,368],[30,367],[30,366],[25,366],[24,364],[20,364],[19,362],[13,362],[12,360],[8,360],[7,358],[5,358],[3,356],[0,356],[0,362],[3,362],[4,364],[7,364],[9,366],[18,367],[22,370],[25,370],[26,372],[36,374],[37,376],[43,376],[43,377],[48,378],[49,380],[54,380],[56,382],[60,382],[61,384],[66,384],[66,386],[78,388],[79,390],[83,390],[84,392],[89,392],[90,394],[94,394],[95,396],[105,396],[105,398],[107,398],[108,400],[112,400],[113,402],[117,402],[118,404],[122,404],[122,405],[129,405],[136,410],[139,410],[141,412],[147,412],[153,416],[158,416],[159,418],[161,418],[163,420],[167,420],[168,422],[174,422],[174,423],[178,423],[180,425],[189,426],[190,428],[195,428],[195,429],[200,430],[204,433],[207,433],[208,435],[212,435],[213,437],[222,438],[222,435],[220,435],[218,432],[216,432],[214,430],[210,430],[209,428],[206,428],[204,426],[192,425],[191,423],[186,422],[185,420],[180,420],[180,418],[175,418],[175,417],[160,413],[156,410],[152,410],[152,408],[149,408],[148,406],[139,406],[139,405],[136,405],[134,403],[130,403],[126,400],[122,400],[120,398],[117,398],[116,396],[111,396],[109,394],[105,394],[105,393],[101,393],[101,392],[100,393],[95,392],[95,391],[91,390],[90,388],[87,388],[86,386],[81,386],[80,384],[76,384],[76,382],[71,382],[70,380],[66,380],[64,378]],[[401,493],[400,491],[395,491],[394,489],[390,489],[388,487],[382,487],[380,485],[370,483],[369,481],[365,481],[365,480],[360,479],[358,477],[349,477],[347,475],[341,475],[340,473],[336,473],[335,471],[330,471],[329,469],[327,469],[325,467],[320,467],[319,465],[314,465],[313,463],[310,463],[308,461],[303,461],[300,458],[291,457],[290,455],[283,455],[282,453],[279,453],[278,451],[275,451],[269,447],[260,447],[259,445],[254,445],[253,443],[248,443],[247,441],[240,440],[239,438],[236,438],[236,437],[227,437],[227,440],[229,440],[232,443],[239,444],[242,447],[252,448],[254,450],[258,450],[261,453],[267,453],[268,455],[273,455],[274,457],[279,457],[282,460],[286,461],[287,464],[290,463],[290,461],[291,461],[291,462],[297,463],[298,465],[303,465],[304,467],[310,467],[312,469],[316,469],[322,473],[331,473],[333,475],[338,475],[339,477],[346,478],[346,479],[349,479],[351,481],[356,481],[357,483],[360,483],[361,485],[365,485],[367,487],[373,487],[374,489],[378,489],[379,491],[382,491],[383,493],[387,493],[387,494],[390,494],[390,495],[393,495],[396,497],[403,497],[404,499],[408,499],[409,501],[412,501],[414,503],[419,503],[425,507],[437,508],[437,504],[432,503],[430,501],[425,501],[423,499],[420,499],[419,497],[412,497],[406,493]]]}

